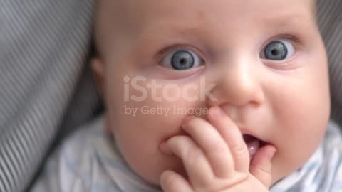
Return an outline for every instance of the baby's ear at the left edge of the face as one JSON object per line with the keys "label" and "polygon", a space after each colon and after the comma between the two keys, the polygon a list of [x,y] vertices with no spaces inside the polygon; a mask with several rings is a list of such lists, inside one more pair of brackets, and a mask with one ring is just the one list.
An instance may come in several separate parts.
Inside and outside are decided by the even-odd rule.
{"label": "baby's ear at the left edge of the face", "polygon": [[104,76],[104,66],[103,61],[100,58],[93,58],[91,60],[91,69],[93,70],[93,76],[95,78],[96,85],[98,86],[98,90],[100,91],[101,95],[105,95],[104,90],[104,83],[105,83],[105,76]]}

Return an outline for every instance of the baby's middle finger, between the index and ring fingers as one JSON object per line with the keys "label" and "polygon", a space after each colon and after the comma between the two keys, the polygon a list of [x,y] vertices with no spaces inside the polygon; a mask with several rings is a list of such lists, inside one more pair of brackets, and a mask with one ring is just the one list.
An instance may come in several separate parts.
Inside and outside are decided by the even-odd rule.
{"label": "baby's middle finger, between the index and ring fingers", "polygon": [[204,119],[193,117],[182,127],[204,151],[215,176],[225,178],[234,173],[232,154],[227,143],[212,124]]}

